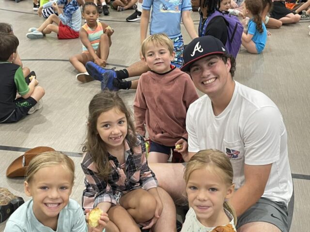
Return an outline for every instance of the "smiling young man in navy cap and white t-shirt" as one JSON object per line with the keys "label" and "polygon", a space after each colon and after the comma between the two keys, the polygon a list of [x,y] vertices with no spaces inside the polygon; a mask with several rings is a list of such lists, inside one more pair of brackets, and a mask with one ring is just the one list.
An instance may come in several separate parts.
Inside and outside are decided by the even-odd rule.
{"label": "smiling young man in navy cap and white t-shirt", "polygon": [[[187,111],[188,154],[183,158],[207,148],[225,152],[237,189],[230,200],[238,216],[237,231],[288,232],[293,182],[281,113],[262,92],[233,80],[236,64],[226,50],[212,36],[196,38],[185,49],[181,70],[205,95]],[[170,193],[184,188],[182,167],[176,165],[150,165],[159,186]]]}

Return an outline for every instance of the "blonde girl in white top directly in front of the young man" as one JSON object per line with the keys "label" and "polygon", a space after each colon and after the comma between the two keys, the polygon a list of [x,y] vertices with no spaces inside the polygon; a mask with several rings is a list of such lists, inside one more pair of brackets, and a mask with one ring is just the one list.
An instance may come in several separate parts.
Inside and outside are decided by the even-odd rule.
{"label": "blonde girl in white top directly in front of the young man", "polygon": [[218,150],[202,150],[186,164],[184,173],[189,210],[181,232],[236,232],[233,167]]}

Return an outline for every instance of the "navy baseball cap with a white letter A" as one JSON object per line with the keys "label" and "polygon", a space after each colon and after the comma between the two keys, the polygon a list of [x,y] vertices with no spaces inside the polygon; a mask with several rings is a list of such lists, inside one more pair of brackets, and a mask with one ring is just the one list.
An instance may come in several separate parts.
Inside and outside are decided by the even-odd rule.
{"label": "navy baseball cap with a white letter A", "polygon": [[183,52],[184,65],[181,70],[189,71],[190,65],[195,61],[217,54],[228,54],[227,48],[219,39],[211,35],[195,38],[188,43]]}

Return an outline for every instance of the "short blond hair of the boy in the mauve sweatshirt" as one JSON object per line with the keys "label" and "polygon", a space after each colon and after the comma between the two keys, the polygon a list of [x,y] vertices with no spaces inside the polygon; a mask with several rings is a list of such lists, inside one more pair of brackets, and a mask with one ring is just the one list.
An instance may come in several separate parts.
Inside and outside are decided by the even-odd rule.
{"label": "short blond hair of the boy in the mauve sweatshirt", "polygon": [[154,34],[154,35],[150,35],[149,37],[147,37],[141,45],[141,53],[144,58],[145,58],[146,46],[149,45],[150,43],[153,43],[154,45],[167,46],[170,54],[173,53],[172,40],[164,33]]}

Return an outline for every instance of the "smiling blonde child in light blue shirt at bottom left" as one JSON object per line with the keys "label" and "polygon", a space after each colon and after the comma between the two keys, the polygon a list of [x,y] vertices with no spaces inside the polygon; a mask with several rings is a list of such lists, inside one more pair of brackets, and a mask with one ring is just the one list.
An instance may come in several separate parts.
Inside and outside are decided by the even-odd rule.
{"label": "smiling blonde child in light blue shirt at bottom left", "polygon": [[[74,184],[74,162],[61,152],[44,152],[27,168],[25,193],[31,200],[16,209],[4,232],[86,232],[81,206],[70,199]],[[102,213],[93,232],[102,232],[109,221]]]}

